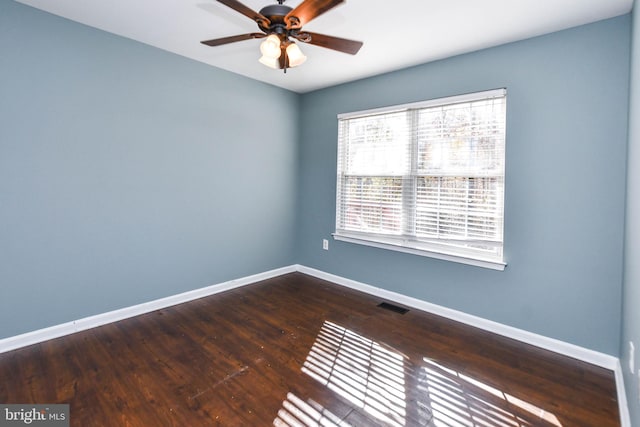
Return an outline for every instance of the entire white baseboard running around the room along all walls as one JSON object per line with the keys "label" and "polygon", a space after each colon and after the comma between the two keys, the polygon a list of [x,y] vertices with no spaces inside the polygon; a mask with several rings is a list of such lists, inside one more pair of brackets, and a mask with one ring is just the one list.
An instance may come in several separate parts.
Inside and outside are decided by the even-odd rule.
{"label": "entire white baseboard running around the room along all walls", "polygon": [[620,366],[620,360],[617,357],[298,264],[246,276],[236,280],[230,280],[216,285],[207,286],[205,288],[195,289],[193,291],[172,295],[166,298],[157,299],[119,310],[109,311],[95,316],[85,317],[83,319],[39,329],[33,332],[0,339],[0,353],[106,325],[108,323],[117,322],[129,317],[150,313],[172,305],[193,301],[198,298],[203,298],[296,271],[609,369],[615,374],[621,425],[622,427],[631,427],[622,368]]}

